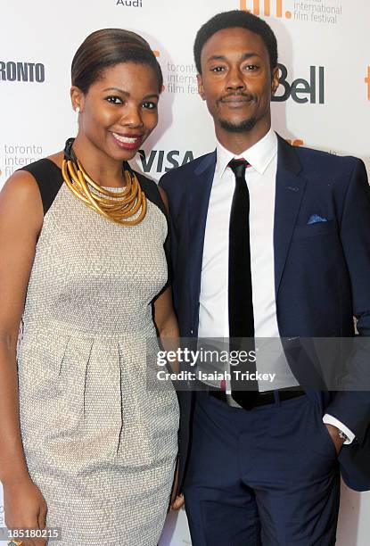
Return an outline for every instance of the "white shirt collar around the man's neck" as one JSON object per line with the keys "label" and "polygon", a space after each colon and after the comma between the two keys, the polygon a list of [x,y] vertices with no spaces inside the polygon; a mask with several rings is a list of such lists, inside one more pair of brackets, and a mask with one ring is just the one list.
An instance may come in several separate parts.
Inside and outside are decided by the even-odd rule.
{"label": "white shirt collar around the man's neck", "polygon": [[229,161],[234,159],[234,157],[243,157],[251,164],[253,169],[257,170],[260,175],[263,175],[277,153],[277,136],[275,131],[270,128],[268,133],[263,136],[259,142],[256,142],[255,145],[252,145],[251,148],[248,148],[248,150],[245,150],[243,153],[235,155],[234,153],[226,150],[226,148],[224,148],[224,146],[219,142],[216,147],[216,152],[216,172],[218,172],[218,176],[220,178],[225,173]]}

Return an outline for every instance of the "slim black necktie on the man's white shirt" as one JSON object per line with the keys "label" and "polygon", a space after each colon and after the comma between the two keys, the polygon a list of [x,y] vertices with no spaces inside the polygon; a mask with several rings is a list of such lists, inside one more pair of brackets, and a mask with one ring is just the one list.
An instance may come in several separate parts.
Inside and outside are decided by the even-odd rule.
{"label": "slim black necktie on the man's white shirt", "polygon": [[254,318],[251,292],[250,194],[245,182],[245,160],[232,160],[235,189],[229,224],[228,314],[230,352],[251,353],[251,360],[231,365],[231,389],[234,401],[244,409],[251,409],[258,396],[256,380],[246,380],[255,373]]}

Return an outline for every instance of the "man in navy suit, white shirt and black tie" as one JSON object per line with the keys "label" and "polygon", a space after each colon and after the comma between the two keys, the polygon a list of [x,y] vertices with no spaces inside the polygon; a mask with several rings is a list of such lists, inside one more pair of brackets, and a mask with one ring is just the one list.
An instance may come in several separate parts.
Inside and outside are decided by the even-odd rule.
{"label": "man in navy suit, white shirt and black tie", "polygon": [[[273,389],[180,393],[179,479],[193,546],[329,546],[339,467],[353,488],[370,486],[370,396],[307,388],[313,368],[294,347],[354,335],[353,315],[370,334],[366,170],[271,130],[277,46],[265,21],[220,13],[199,30],[194,54],[217,149],[160,182],[181,335],[285,341]],[[353,381],[360,371],[351,360]],[[369,385],[368,367],[362,380]]]}

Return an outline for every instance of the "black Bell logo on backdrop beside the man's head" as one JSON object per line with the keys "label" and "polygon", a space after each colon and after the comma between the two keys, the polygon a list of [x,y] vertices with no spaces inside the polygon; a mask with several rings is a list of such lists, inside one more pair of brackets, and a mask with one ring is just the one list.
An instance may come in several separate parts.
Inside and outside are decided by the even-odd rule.
{"label": "black Bell logo on backdrop beside the man's head", "polygon": [[[307,79],[294,79],[290,84],[287,81],[288,69],[284,64],[278,63],[280,70],[279,83],[284,88],[283,95],[274,95],[271,100],[275,103],[284,103],[290,97],[295,103],[324,104],[325,103],[325,75],[324,66],[309,67],[309,81]],[[279,87],[280,88],[280,87]],[[279,89],[278,89],[279,90]],[[305,96],[306,95],[306,96]],[[308,99],[309,97],[309,99]]]}

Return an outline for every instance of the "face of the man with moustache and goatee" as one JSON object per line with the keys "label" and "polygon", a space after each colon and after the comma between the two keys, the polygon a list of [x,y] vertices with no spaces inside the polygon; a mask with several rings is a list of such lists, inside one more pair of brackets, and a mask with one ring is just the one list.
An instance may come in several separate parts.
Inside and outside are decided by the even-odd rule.
{"label": "face of the man with moustache and goatee", "polygon": [[239,27],[218,30],[201,50],[198,89],[218,136],[270,127],[270,101],[279,85],[261,37]]}

